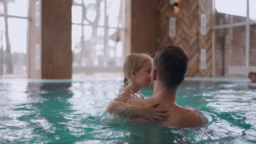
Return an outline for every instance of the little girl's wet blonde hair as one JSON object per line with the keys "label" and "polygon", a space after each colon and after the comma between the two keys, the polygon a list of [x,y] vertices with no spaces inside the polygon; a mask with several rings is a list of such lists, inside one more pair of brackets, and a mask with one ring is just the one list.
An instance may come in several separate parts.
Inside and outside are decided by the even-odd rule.
{"label": "little girl's wet blonde hair", "polygon": [[143,63],[151,61],[153,62],[153,58],[145,53],[131,53],[126,57],[123,70],[124,70],[124,87],[126,87],[129,83],[131,70],[139,70],[142,68]]}

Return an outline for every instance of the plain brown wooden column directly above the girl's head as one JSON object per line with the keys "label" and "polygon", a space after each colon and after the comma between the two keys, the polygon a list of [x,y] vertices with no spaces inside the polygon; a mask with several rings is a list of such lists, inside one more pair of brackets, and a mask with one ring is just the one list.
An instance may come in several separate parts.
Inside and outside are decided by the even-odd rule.
{"label": "plain brown wooden column directly above the girl's head", "polygon": [[130,40],[131,53],[154,55],[158,49],[158,1],[129,0],[128,4],[126,28],[130,33],[127,40]]}

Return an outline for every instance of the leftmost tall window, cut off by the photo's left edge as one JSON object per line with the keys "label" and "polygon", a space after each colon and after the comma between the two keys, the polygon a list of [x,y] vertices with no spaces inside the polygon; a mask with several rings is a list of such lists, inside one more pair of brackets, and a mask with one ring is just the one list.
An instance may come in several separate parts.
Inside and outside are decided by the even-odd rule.
{"label": "leftmost tall window, cut off by the photo's left edge", "polygon": [[27,75],[28,0],[0,0],[0,74]]}

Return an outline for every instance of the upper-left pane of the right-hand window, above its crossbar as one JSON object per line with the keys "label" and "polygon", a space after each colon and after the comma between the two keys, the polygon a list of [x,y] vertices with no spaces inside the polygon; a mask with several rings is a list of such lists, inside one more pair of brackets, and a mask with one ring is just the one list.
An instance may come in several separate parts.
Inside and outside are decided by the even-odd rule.
{"label": "upper-left pane of the right-hand window, above its crossbar", "polygon": [[[229,5],[227,7],[227,5]],[[246,1],[216,0],[216,25],[246,21]]]}

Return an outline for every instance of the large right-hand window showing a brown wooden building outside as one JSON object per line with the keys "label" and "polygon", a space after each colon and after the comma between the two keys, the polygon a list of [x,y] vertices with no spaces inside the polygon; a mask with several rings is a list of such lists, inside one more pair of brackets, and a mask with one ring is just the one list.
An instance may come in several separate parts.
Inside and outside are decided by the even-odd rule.
{"label": "large right-hand window showing a brown wooden building outside", "polygon": [[247,75],[256,70],[254,5],[256,0],[215,0],[214,76]]}

